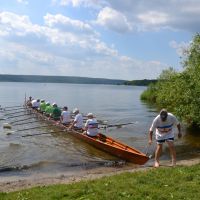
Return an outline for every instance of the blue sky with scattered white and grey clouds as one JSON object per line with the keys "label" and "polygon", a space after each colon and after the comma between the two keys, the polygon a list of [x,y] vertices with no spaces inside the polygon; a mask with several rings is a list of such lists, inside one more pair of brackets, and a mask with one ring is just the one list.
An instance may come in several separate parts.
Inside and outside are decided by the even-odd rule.
{"label": "blue sky with scattered white and grey clouds", "polygon": [[156,79],[200,31],[200,0],[0,0],[0,74]]}

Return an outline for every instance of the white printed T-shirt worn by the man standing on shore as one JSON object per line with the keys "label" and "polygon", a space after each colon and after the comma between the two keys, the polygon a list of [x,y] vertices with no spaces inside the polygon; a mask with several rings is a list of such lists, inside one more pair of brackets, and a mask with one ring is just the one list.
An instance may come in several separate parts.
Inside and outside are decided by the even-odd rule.
{"label": "white printed T-shirt worn by the man standing on shore", "polygon": [[153,120],[150,131],[154,131],[156,129],[156,140],[173,138],[174,129],[178,124],[179,121],[171,113],[168,113],[167,119],[165,121],[162,121],[160,115],[158,115]]}

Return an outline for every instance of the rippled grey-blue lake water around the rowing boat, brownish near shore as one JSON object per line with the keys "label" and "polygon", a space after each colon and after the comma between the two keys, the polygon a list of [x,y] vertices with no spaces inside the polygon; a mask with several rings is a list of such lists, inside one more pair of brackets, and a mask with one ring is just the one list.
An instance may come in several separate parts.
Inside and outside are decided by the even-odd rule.
{"label": "rippled grey-blue lake water around the rowing boat, brownish near shore", "polygon": [[[140,101],[140,94],[144,89],[145,87],[111,85],[0,83],[0,105],[22,105],[25,96],[32,96],[56,102],[60,107],[67,105],[69,110],[78,107],[82,113],[92,112],[98,119],[106,120],[109,124],[135,122],[133,125],[102,132],[143,152],[148,150],[152,153],[154,145],[150,149],[146,148],[147,132],[157,113]],[[62,132],[22,137],[26,134],[49,132],[52,127],[15,132],[45,125],[34,117],[26,121],[32,123],[13,125],[12,130],[9,130],[12,134],[7,135],[8,131],[2,127],[3,123],[30,118],[26,112],[15,114],[24,116],[9,118],[9,113],[19,111],[7,108],[7,111],[0,113],[0,176],[22,177],[58,172],[75,174],[77,171],[106,166],[118,160]],[[181,141],[176,141],[178,156],[184,157],[186,149],[198,150],[199,143],[199,137],[185,134]],[[168,154],[165,153],[162,159],[169,159]]]}

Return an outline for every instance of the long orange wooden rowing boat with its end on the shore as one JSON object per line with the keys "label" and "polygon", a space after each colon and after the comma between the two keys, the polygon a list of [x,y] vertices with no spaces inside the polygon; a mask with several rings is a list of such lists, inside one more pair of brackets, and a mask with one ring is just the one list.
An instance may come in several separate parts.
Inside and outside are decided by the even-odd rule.
{"label": "long orange wooden rowing boat with its end on the shore", "polygon": [[45,115],[43,115],[42,113],[28,107],[29,109],[31,109],[31,111],[33,111],[35,114],[37,114],[37,116],[59,128],[61,128],[62,130],[66,131],[68,134],[100,149],[103,150],[107,153],[110,153],[111,155],[114,155],[116,157],[119,157],[123,160],[126,160],[128,162],[132,162],[135,164],[139,164],[139,165],[144,165],[148,160],[149,157],[146,156],[144,153],[140,152],[139,150],[130,147],[126,144],[123,144],[120,141],[117,141],[111,137],[108,137],[102,133],[99,133],[97,136],[95,137],[90,137],[86,134],[83,134],[82,132],[76,131],[76,130],[68,130],[67,127],[63,124],[61,124],[58,121],[55,121],[53,119],[49,119],[48,117],[46,117]]}

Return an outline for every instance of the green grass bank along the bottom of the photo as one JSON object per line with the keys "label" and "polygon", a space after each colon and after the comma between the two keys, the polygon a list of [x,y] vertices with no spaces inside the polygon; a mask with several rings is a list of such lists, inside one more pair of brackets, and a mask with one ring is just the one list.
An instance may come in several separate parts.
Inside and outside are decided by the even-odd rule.
{"label": "green grass bank along the bottom of the photo", "polygon": [[0,193],[0,200],[196,200],[200,199],[200,164],[159,168],[73,184]]}

